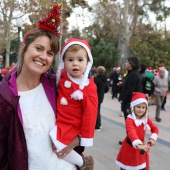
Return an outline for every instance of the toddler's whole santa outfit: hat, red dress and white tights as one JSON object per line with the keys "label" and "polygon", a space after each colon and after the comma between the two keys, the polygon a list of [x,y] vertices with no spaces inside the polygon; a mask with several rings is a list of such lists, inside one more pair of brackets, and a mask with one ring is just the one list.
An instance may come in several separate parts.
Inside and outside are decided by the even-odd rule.
{"label": "toddler's whole santa outfit: hat, red dress and white tights", "polygon": [[[64,69],[64,54],[72,45],[82,46],[88,56],[86,69],[81,79],[74,79]],[[88,79],[93,64],[91,48],[86,40],[70,38],[62,47],[56,77],[58,85],[56,126],[50,131],[52,142],[60,151],[78,135],[81,146],[92,146],[96,124],[98,97],[93,78]],[[74,150],[63,159],[78,166],[84,161]]]}

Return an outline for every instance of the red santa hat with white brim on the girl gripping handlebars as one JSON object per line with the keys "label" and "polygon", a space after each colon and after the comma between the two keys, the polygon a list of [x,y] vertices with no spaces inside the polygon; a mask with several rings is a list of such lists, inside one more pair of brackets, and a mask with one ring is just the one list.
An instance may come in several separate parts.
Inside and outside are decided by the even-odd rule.
{"label": "red santa hat with white brim on the girl gripping handlebars", "polygon": [[134,106],[140,103],[146,103],[146,105],[148,105],[146,94],[141,93],[141,92],[133,92],[131,103],[130,103],[131,108],[133,108]]}

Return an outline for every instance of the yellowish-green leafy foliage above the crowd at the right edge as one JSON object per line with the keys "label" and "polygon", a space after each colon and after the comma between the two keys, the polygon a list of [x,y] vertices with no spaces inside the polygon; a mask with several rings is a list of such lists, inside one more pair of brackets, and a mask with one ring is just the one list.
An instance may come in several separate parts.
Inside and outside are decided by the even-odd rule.
{"label": "yellowish-green leafy foliage above the crowd at the right edge", "polygon": [[130,41],[130,52],[137,56],[141,63],[158,68],[164,63],[170,69],[170,41],[160,31],[154,31],[150,25],[142,25]]}

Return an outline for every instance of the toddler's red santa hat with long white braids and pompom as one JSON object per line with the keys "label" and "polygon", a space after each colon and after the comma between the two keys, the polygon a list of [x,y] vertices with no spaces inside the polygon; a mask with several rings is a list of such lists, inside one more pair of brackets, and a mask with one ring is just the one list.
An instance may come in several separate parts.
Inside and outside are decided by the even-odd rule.
{"label": "toddler's red santa hat with long white braids and pompom", "polygon": [[79,89],[77,89],[75,92],[73,92],[73,94],[71,94],[71,97],[74,98],[75,100],[81,100],[81,99],[83,99],[83,93],[82,93],[81,90],[84,89],[84,86],[85,86],[86,82],[88,81],[88,74],[89,74],[91,67],[93,65],[93,57],[92,57],[92,54],[91,54],[91,48],[90,48],[90,46],[89,46],[89,44],[86,40],[70,38],[64,44],[64,46],[61,49],[60,62],[59,62],[59,65],[58,65],[58,70],[57,70],[56,76],[57,76],[57,85],[58,85],[58,82],[59,82],[60,76],[61,76],[61,71],[64,69],[63,56],[64,56],[66,50],[71,45],[76,45],[76,44],[84,47],[84,49],[87,51],[87,55],[88,55],[88,58],[89,58],[89,61],[88,61],[87,66],[86,66],[86,70],[85,70],[84,75],[83,75],[81,82],[79,84]]}

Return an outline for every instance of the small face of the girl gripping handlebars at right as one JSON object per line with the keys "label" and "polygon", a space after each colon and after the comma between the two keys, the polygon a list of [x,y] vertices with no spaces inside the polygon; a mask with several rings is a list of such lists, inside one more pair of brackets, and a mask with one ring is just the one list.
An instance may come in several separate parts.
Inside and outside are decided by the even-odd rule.
{"label": "small face of the girl gripping handlebars at right", "polygon": [[134,113],[136,115],[136,118],[141,119],[145,115],[146,109],[147,109],[146,103],[136,105],[134,107]]}

